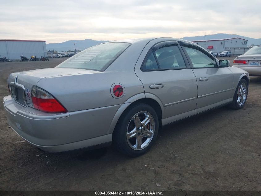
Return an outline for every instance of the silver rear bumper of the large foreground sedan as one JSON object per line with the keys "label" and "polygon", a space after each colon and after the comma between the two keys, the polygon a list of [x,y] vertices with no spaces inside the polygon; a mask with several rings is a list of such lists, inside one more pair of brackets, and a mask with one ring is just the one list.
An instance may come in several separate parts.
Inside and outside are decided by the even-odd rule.
{"label": "silver rear bumper of the large foreground sedan", "polygon": [[61,152],[107,144],[112,141],[109,127],[120,107],[48,114],[23,107],[11,96],[3,98],[8,123],[14,131],[44,151]]}

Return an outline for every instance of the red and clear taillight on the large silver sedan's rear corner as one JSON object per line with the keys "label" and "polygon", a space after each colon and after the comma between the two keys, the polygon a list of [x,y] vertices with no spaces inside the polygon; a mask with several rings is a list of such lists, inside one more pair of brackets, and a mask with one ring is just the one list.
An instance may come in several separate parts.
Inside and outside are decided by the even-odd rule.
{"label": "red and clear taillight on the large silver sedan's rear corner", "polygon": [[44,89],[33,86],[31,97],[33,106],[37,110],[52,113],[66,112],[66,109]]}

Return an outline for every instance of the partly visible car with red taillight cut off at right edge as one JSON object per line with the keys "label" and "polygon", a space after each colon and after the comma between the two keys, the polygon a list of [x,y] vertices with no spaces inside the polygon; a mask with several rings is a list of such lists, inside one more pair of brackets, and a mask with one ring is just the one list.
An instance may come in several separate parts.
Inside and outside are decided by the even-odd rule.
{"label": "partly visible car with red taillight cut off at right edge", "polygon": [[239,67],[249,73],[250,76],[261,76],[261,46],[254,46],[245,54],[235,58],[233,67]]}

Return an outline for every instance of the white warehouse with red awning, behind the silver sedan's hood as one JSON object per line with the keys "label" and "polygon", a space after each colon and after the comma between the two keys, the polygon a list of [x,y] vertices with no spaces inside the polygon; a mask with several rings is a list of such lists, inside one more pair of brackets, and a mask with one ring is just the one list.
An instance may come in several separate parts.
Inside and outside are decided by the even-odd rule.
{"label": "white warehouse with red awning, behind the silver sedan's hood", "polygon": [[223,51],[230,51],[233,55],[241,55],[248,50],[247,41],[248,40],[246,39],[235,37],[215,40],[197,40],[192,42],[198,44],[208,51],[218,52],[218,54]]}

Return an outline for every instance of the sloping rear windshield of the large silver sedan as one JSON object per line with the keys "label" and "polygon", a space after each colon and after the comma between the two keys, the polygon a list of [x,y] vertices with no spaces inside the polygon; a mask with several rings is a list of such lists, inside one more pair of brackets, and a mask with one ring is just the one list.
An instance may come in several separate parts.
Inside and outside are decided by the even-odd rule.
{"label": "sloping rear windshield of the large silver sedan", "polygon": [[73,57],[64,61],[57,68],[78,68],[95,71],[104,71],[130,43],[104,43],[92,46],[75,54]]}

